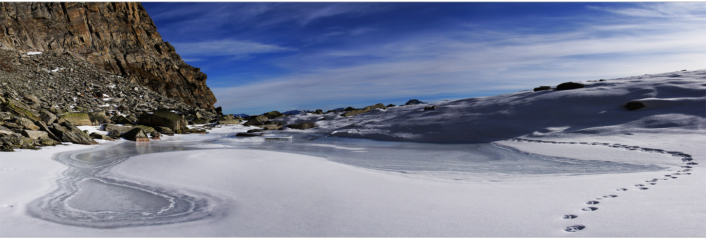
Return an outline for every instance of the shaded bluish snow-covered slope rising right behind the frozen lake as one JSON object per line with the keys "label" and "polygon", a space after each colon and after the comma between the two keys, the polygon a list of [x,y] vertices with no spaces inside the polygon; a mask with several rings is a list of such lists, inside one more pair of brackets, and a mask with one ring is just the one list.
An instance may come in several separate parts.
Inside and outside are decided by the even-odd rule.
{"label": "shaded bluish snow-covered slope rising right behind the frozen lake", "polygon": [[[706,133],[706,70],[581,83],[585,87],[574,90],[525,90],[373,109],[357,116],[300,114],[277,121],[313,121],[319,127],[308,131],[335,136],[419,142],[474,141],[487,136]],[[642,102],[645,108],[630,111],[624,107],[633,101]],[[438,109],[424,111],[430,105]]]}

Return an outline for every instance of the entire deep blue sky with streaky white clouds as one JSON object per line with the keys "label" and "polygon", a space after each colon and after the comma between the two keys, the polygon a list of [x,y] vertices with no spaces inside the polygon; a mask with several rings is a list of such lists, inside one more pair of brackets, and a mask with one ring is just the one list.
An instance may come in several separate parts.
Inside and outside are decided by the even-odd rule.
{"label": "entire deep blue sky with streaky white clouds", "polygon": [[706,68],[706,3],[145,2],[225,114]]}

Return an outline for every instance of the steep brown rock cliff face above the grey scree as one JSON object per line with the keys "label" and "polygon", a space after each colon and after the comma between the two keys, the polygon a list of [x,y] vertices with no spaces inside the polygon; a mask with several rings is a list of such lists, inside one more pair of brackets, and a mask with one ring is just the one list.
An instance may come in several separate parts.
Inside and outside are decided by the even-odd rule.
{"label": "steep brown rock cliff face above the grey scree", "polygon": [[0,49],[68,52],[186,104],[216,102],[136,2],[1,2]]}

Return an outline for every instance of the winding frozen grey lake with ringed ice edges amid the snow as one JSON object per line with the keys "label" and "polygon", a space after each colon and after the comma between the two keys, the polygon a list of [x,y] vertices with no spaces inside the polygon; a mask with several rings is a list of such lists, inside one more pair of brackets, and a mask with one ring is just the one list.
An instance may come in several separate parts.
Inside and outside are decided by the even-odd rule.
{"label": "winding frozen grey lake with ringed ice edges amid the snow", "polygon": [[[213,216],[213,209],[228,199],[198,190],[136,183],[111,170],[138,155],[198,149],[256,149],[304,154],[361,168],[445,180],[503,180],[518,176],[664,169],[654,165],[545,157],[492,143],[386,142],[315,134],[279,135],[291,139],[268,140],[266,137],[230,135],[203,135],[202,140],[170,137],[152,142],[120,142],[56,154],[54,160],[68,166],[68,170],[57,181],[58,188],[32,202],[28,211],[40,219],[88,228],[148,226]],[[198,155],[198,152],[184,154]],[[198,159],[192,160],[198,162]]]}

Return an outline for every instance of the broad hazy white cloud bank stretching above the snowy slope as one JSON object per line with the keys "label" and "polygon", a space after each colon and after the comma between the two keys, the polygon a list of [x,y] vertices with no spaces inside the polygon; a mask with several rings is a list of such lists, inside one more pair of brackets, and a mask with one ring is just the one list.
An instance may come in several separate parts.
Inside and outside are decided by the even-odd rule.
{"label": "broad hazy white cloud bank stretching above the snowy slope", "polygon": [[[478,26],[420,33],[385,44],[299,54],[280,63],[297,74],[212,90],[226,111],[260,114],[472,97],[706,68],[706,19],[659,19],[599,20],[551,34]],[[346,64],[328,65],[338,61]]]}

